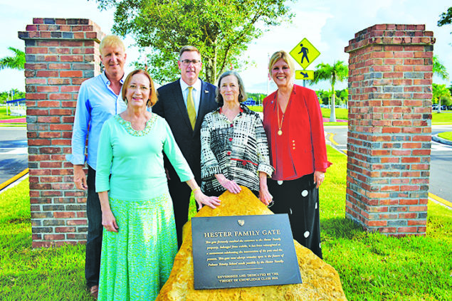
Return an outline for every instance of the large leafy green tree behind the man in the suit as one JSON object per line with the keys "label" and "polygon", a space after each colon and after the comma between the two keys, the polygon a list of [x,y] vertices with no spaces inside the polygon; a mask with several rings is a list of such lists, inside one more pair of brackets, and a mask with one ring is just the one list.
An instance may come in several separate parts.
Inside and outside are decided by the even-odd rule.
{"label": "large leafy green tree behind the man in the suit", "polygon": [[[179,76],[179,49],[196,46],[203,57],[205,78],[241,62],[248,43],[264,26],[290,19],[286,0],[96,0],[100,9],[115,9],[113,32],[131,34],[147,49],[149,73],[159,83]],[[295,1],[295,0],[290,0]]]}

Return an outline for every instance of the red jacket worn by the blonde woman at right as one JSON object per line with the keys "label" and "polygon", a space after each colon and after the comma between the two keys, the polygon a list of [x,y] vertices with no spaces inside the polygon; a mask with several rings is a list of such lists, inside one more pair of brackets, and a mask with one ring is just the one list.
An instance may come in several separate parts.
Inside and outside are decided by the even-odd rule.
{"label": "red jacket worn by the blonde woman at right", "polygon": [[[323,118],[317,95],[313,90],[293,85],[281,128],[282,137],[278,137],[277,97],[278,91],[275,91],[263,100],[263,127],[270,148],[270,163],[277,170],[283,168],[283,179],[278,180],[293,177],[293,173],[284,172],[293,169],[296,178],[314,171],[325,172],[331,163],[327,160]],[[280,112],[280,120],[281,117]],[[277,139],[282,145],[276,145]],[[277,158],[276,147],[288,148],[288,156]]]}

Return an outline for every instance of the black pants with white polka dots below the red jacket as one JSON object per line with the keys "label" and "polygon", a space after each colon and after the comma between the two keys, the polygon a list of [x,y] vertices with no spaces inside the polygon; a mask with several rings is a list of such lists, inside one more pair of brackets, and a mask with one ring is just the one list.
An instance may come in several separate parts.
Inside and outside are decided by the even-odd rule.
{"label": "black pants with white polka dots below the red jacket", "polygon": [[315,188],[314,174],[291,181],[268,179],[268,191],[274,201],[270,210],[288,213],[293,238],[322,258],[319,190]]}

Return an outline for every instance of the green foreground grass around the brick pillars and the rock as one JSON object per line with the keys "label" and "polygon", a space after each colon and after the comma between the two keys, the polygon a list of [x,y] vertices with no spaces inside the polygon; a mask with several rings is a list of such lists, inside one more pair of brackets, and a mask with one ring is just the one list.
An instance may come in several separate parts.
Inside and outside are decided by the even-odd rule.
{"label": "green foreground grass around the brick pillars and the rock", "polygon": [[[320,189],[322,249],[348,300],[451,300],[452,211],[429,202],[425,237],[366,233],[345,218],[347,158],[327,152],[333,165]],[[0,245],[1,300],[90,300],[84,245],[31,249],[28,181],[0,194]]]}

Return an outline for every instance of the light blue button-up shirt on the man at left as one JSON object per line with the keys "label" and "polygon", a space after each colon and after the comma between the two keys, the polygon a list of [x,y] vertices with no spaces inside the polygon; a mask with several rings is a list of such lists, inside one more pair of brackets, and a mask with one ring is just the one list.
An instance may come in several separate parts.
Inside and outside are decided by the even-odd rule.
{"label": "light blue button-up shirt on the man at left", "polygon": [[[120,80],[123,83],[124,78]],[[72,132],[72,154],[66,159],[72,164],[85,164],[85,141],[88,135],[88,165],[96,169],[100,130],[104,122],[127,108],[120,95],[110,88],[105,72],[85,80],[80,86]]]}

